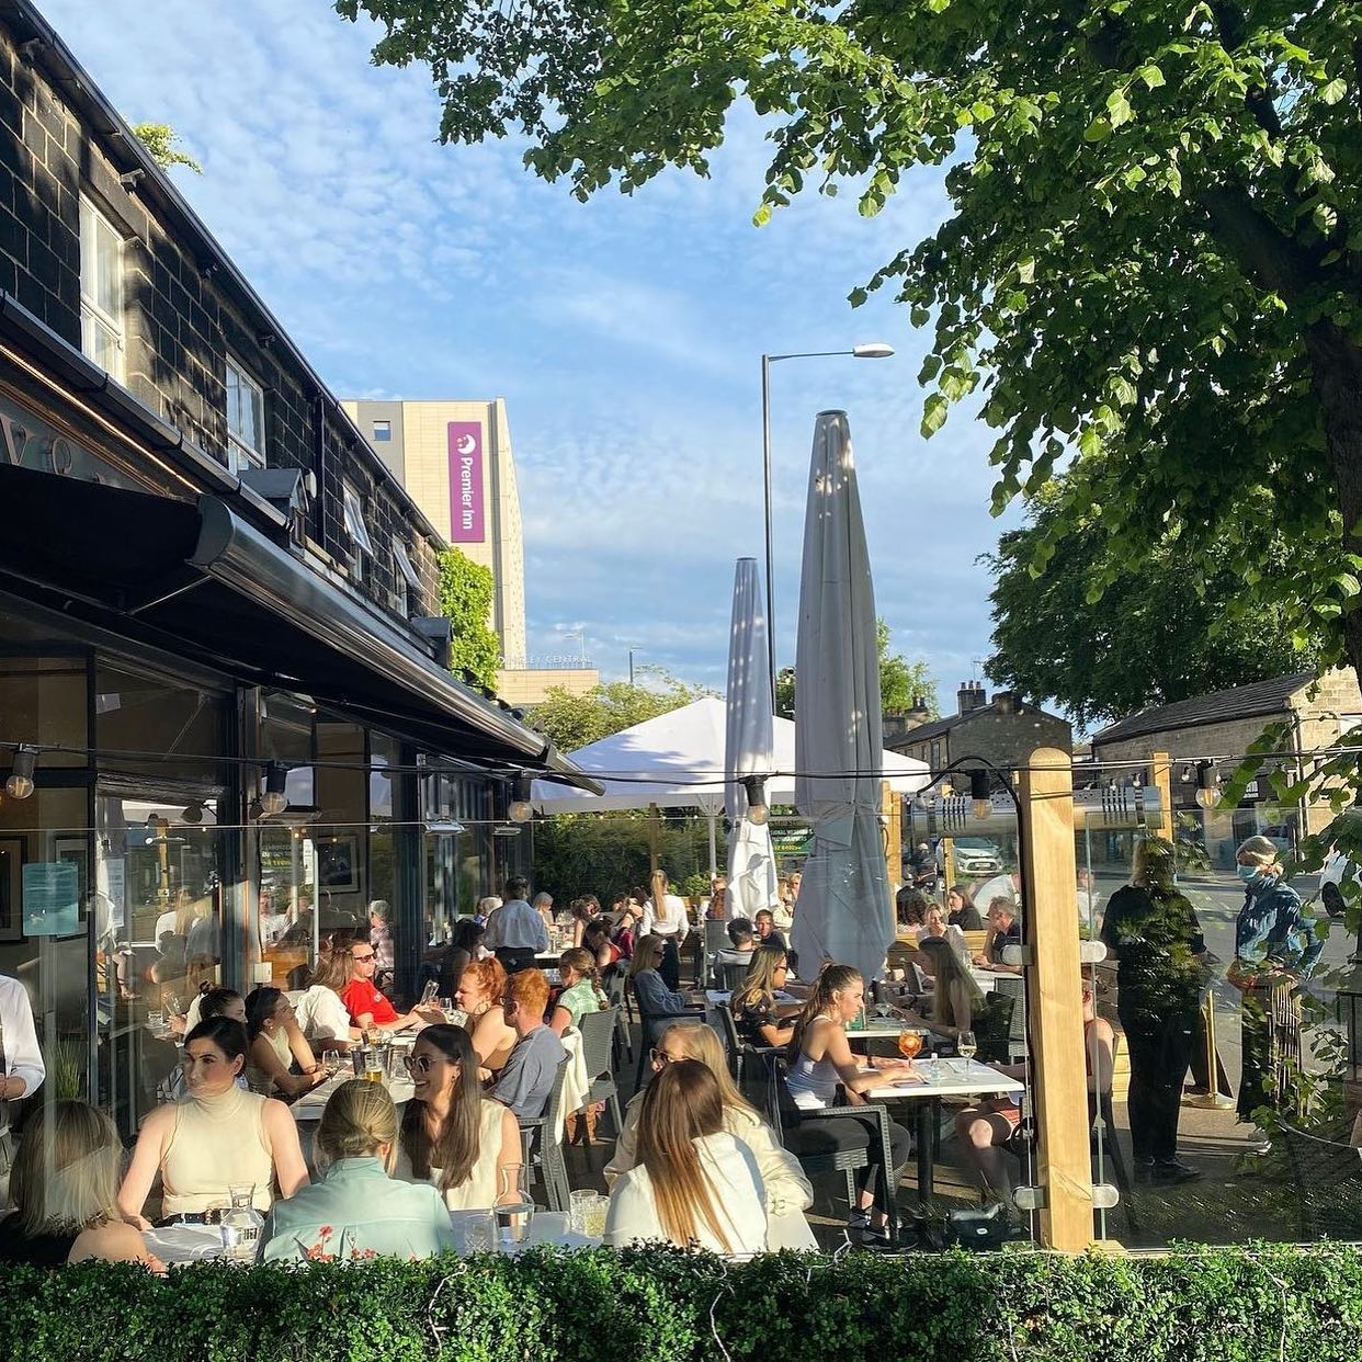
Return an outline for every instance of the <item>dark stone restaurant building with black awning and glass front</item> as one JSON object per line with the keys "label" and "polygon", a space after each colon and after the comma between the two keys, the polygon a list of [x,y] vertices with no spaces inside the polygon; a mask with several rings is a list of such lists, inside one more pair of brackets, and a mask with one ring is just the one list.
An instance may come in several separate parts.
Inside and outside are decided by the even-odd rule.
{"label": "dark stone restaurant building with black awning and glass front", "polygon": [[[447,667],[443,541],[26,0],[0,0],[0,972],[124,1136],[151,1012],[296,982],[385,900],[398,989],[572,768]],[[498,835],[507,834],[507,835]]]}

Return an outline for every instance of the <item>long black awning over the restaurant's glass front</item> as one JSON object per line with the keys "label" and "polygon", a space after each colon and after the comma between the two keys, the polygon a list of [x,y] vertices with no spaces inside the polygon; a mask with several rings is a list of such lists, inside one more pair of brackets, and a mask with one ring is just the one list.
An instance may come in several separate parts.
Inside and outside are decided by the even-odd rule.
{"label": "long black awning over the restaurant's glass front", "polygon": [[302,691],[430,752],[573,771],[217,497],[193,505],[0,467],[0,586],[251,684]]}

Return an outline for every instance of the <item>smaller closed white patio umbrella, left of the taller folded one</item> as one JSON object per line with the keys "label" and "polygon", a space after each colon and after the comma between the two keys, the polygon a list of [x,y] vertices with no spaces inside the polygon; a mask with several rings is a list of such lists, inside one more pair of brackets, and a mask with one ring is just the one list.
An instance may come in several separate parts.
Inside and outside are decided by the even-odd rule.
{"label": "smaller closed white patio umbrella, left of the taller folded one", "polygon": [[771,714],[771,663],[765,609],[756,558],[738,558],[733,577],[733,625],[729,631],[727,725],[723,765],[729,774],[729,917],[753,918],[776,902],[771,828],[748,817],[742,776],[768,776],[775,765]]}

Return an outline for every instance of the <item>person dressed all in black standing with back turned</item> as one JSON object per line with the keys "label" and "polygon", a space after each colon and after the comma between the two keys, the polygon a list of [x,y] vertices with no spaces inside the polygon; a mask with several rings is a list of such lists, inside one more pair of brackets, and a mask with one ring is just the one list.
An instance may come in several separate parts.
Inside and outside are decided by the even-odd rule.
{"label": "person dressed all in black standing with back turned", "polygon": [[1102,919],[1102,941],[1117,962],[1117,1013],[1130,1053],[1130,1144],[1137,1173],[1155,1182],[1201,1175],[1177,1155],[1205,938],[1174,884],[1175,868],[1170,842],[1137,842],[1132,883],[1111,895]]}

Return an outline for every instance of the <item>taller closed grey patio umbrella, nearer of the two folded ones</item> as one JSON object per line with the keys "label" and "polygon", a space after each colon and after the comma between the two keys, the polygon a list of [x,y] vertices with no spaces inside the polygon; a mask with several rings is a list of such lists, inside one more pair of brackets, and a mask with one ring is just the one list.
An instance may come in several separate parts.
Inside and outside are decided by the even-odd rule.
{"label": "taller closed grey patio umbrella, nearer of the two folded ones", "polygon": [[795,648],[795,804],[813,824],[791,945],[880,974],[893,940],[880,831],[874,588],[844,411],[820,411],[804,520]]}

